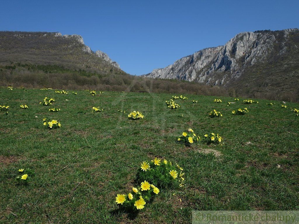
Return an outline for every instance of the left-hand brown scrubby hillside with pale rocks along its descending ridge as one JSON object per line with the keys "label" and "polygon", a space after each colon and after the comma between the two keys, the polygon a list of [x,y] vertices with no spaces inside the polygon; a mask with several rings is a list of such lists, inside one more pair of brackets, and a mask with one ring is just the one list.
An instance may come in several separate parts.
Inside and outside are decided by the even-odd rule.
{"label": "left-hand brown scrubby hillside with pale rocks along its descending ridge", "polygon": [[106,53],[100,50],[93,52],[76,34],[1,31],[0,62],[0,65],[20,62],[124,73]]}

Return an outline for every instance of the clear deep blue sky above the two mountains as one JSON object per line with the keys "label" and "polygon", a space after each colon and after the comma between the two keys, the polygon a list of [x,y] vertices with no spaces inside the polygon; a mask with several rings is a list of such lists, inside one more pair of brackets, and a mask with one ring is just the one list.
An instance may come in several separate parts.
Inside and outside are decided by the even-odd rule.
{"label": "clear deep blue sky above the two mountains", "polygon": [[[130,74],[172,64],[237,33],[299,28],[299,1],[1,1],[0,30],[79,34]],[[1,43],[0,43],[1,44]]]}

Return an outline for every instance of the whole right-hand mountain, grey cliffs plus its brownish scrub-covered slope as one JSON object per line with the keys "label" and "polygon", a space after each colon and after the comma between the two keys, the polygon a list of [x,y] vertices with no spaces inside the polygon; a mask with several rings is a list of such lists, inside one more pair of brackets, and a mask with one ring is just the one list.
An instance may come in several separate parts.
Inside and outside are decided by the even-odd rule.
{"label": "whole right-hand mountain, grey cliffs plus its brownish scrub-covered slope", "polygon": [[144,75],[234,88],[258,97],[299,94],[299,30],[239,33],[224,46],[183,57]]}

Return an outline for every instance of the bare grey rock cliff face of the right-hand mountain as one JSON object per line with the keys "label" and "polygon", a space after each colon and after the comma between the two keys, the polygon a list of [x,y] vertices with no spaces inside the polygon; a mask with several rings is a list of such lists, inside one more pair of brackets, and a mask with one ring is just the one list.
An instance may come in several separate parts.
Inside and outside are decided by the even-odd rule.
{"label": "bare grey rock cliff face of the right-hand mountain", "polygon": [[298,34],[298,29],[239,33],[224,46],[200,50],[144,76],[228,86],[249,67],[285,54],[290,36]]}

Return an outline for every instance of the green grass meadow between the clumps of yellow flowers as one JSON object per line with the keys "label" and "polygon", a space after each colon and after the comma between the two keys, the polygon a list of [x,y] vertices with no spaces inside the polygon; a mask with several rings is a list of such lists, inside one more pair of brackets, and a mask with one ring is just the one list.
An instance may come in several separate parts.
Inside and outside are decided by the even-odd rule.
{"label": "green grass meadow between the clumps of yellow flowers", "polygon": [[[0,89],[0,105],[10,106],[7,116],[0,111],[0,156],[13,158],[0,162],[1,223],[190,223],[192,210],[299,209],[299,117],[290,111],[298,104],[240,99],[228,107],[233,98],[187,95],[170,110],[165,100],[172,94],[54,91]],[[46,96],[55,99],[52,106],[39,104]],[[93,106],[104,111],[91,113]],[[244,107],[248,114],[231,115]],[[223,116],[208,117],[213,109]],[[144,119],[129,120],[134,110]],[[44,117],[62,127],[48,130]],[[202,139],[219,133],[224,144],[179,144],[187,128]],[[154,157],[179,163],[186,188],[162,189],[134,219],[116,212],[116,194],[128,192],[140,162]],[[29,185],[16,185],[19,168],[33,170]]]}

